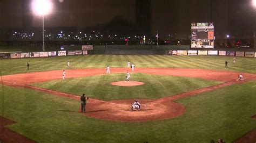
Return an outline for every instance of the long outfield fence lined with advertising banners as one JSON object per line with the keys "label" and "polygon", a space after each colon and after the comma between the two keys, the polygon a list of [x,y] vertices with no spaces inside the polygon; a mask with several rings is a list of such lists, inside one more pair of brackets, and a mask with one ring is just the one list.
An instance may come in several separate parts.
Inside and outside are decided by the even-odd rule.
{"label": "long outfield fence lined with advertising banners", "polygon": [[39,58],[49,56],[75,56],[92,54],[111,54],[111,55],[219,55],[219,56],[239,56],[256,58],[256,52],[246,51],[223,51],[223,50],[166,50],[166,49],[91,49],[76,51],[49,51],[49,52],[3,52],[0,53],[0,59],[18,59],[18,58]]}

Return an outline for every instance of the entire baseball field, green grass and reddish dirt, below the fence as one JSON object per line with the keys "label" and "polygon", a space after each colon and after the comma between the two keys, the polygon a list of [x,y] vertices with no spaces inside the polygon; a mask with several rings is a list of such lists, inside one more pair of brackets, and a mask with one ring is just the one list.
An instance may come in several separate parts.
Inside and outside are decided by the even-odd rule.
{"label": "entire baseball field, green grass and reddish dirt, below the fence", "polygon": [[[6,142],[256,139],[255,58],[86,55],[5,59],[0,65],[0,139]],[[244,81],[235,81],[239,74]],[[112,85],[118,81],[127,86]],[[86,113],[80,112],[82,94],[89,97]],[[140,111],[129,111],[134,99]]]}

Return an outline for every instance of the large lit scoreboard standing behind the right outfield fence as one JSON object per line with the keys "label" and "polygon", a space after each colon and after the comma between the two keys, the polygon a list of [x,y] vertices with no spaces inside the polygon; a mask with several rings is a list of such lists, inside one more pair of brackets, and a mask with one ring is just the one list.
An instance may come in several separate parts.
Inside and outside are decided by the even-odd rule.
{"label": "large lit scoreboard standing behind the right outfield fence", "polygon": [[191,48],[214,48],[213,23],[191,23]]}

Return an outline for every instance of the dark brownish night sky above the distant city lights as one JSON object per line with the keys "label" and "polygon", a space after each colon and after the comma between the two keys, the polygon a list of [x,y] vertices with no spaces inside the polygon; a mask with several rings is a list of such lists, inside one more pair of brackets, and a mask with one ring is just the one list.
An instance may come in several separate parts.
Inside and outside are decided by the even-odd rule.
{"label": "dark brownish night sky above the distant city lights", "polygon": [[[0,0],[0,4],[0,28],[23,27],[24,15],[32,17],[32,27],[42,26],[41,17],[22,9],[22,0]],[[54,0],[53,5],[54,11],[45,17],[48,27],[81,29],[117,16],[136,23],[136,0]],[[217,34],[246,34],[255,28],[256,8],[251,0],[152,0],[150,9],[151,34],[157,30],[161,35],[189,34],[191,22],[212,21]]]}

